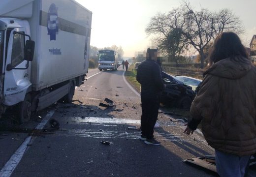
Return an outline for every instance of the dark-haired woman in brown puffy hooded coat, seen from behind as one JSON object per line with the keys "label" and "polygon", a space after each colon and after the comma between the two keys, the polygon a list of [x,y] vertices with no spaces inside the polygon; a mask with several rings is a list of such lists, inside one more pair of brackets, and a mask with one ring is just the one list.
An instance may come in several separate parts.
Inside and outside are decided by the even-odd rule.
{"label": "dark-haired woman in brown puffy hooded coat, seen from behind", "polygon": [[184,133],[193,134],[202,121],[204,137],[215,148],[218,174],[244,177],[256,153],[256,67],[233,32],[217,36],[209,59]]}

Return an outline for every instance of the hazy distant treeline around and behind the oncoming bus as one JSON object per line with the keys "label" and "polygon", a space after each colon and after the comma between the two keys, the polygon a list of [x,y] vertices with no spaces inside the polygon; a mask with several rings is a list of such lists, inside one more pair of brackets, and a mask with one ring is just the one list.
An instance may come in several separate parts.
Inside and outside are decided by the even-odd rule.
{"label": "hazy distant treeline around and behind the oncoming bus", "polygon": [[122,46],[117,47],[116,45],[112,45],[111,47],[97,48],[95,46],[90,46],[90,58],[89,58],[89,68],[95,68],[98,64],[97,51],[102,49],[110,49],[117,51],[119,54],[119,59],[121,60],[124,56],[124,51]]}

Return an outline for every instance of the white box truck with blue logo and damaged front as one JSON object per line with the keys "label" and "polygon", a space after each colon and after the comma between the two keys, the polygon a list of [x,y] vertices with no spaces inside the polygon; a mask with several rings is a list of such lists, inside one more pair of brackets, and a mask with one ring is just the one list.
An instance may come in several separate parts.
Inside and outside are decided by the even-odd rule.
{"label": "white box truck with blue logo and damaged front", "polygon": [[0,115],[20,123],[64,100],[88,72],[92,12],[74,0],[0,0]]}

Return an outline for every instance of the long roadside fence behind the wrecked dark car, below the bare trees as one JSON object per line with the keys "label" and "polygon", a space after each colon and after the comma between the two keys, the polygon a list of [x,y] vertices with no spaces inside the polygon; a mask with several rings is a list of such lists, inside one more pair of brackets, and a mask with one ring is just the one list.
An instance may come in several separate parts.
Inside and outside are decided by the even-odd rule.
{"label": "long roadside fence behind the wrecked dark car, below the bare trees", "polygon": [[203,72],[204,72],[204,69],[200,69],[200,68],[189,69],[189,68],[168,67],[168,66],[163,66],[162,70],[172,75],[183,75],[183,76],[189,76],[197,79],[203,79]]}

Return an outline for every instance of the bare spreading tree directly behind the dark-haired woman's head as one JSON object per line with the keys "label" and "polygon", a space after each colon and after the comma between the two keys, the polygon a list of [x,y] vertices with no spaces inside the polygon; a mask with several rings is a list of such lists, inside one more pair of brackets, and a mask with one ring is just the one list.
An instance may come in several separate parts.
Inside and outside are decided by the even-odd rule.
{"label": "bare spreading tree directly behind the dark-haired woman's head", "polygon": [[184,11],[182,31],[199,53],[201,68],[204,67],[204,49],[218,34],[224,30],[243,32],[239,18],[228,9],[222,9],[218,13],[209,12],[203,8],[200,11],[194,11],[190,3],[185,0],[182,8]]}

